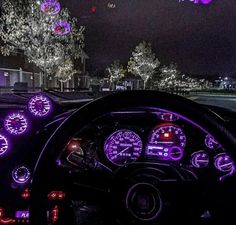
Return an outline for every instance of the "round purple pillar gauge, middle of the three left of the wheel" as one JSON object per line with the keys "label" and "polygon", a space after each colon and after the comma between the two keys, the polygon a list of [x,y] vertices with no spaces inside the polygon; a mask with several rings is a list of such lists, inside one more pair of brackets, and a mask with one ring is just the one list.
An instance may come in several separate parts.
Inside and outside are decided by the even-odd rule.
{"label": "round purple pillar gauge, middle of the three left of the wheel", "polygon": [[7,132],[12,135],[22,135],[26,133],[28,121],[22,113],[10,113],[4,120]]}

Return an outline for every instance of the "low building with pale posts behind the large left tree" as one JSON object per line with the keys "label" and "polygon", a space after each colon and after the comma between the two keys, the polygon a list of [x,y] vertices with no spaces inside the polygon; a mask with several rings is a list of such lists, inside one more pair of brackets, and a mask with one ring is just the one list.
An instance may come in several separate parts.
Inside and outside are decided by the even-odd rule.
{"label": "low building with pale posts behind the large left tree", "polygon": [[[63,84],[64,90],[75,90],[79,87],[87,88],[89,77],[86,72],[86,61],[89,59],[83,52],[81,58],[76,62],[76,66],[82,71],[81,74],[75,74],[73,79]],[[80,84],[81,82],[81,84]],[[47,88],[61,89],[61,83],[54,76],[47,77]],[[39,91],[43,87],[43,73],[32,64],[25,62],[22,56],[0,57],[0,92],[10,90]]]}

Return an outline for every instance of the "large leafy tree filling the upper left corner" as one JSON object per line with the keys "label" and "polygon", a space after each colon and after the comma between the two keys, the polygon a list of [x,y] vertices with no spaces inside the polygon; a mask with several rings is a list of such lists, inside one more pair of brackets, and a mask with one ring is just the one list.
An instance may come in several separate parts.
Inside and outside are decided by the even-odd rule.
{"label": "large leafy tree filling the upper left corner", "polygon": [[[19,50],[27,60],[47,74],[55,73],[66,60],[78,59],[84,47],[84,27],[78,27],[67,9],[55,15],[40,10],[43,1],[3,0],[0,18],[1,52],[7,56]],[[66,21],[71,32],[58,35],[54,22]],[[60,27],[58,27],[59,29]]]}

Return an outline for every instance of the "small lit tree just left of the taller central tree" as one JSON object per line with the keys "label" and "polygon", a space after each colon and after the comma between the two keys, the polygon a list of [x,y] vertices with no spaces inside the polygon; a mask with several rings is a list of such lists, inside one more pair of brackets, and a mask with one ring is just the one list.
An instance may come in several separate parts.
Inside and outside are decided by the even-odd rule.
{"label": "small lit tree just left of the taller central tree", "polygon": [[124,69],[123,65],[120,64],[119,60],[115,60],[109,67],[107,67],[106,70],[108,71],[112,90],[114,90],[115,84],[125,76],[126,70]]}

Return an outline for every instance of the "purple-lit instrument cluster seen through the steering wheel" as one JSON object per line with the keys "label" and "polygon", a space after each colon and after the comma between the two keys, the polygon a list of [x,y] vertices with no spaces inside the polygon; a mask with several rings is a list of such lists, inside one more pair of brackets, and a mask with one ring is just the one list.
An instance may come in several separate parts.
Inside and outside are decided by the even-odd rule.
{"label": "purple-lit instrument cluster seen through the steering wheel", "polygon": [[131,163],[165,163],[192,170],[215,168],[220,178],[235,170],[211,134],[172,112],[113,112],[91,127],[66,146],[69,164],[81,165],[90,158],[116,170]]}

